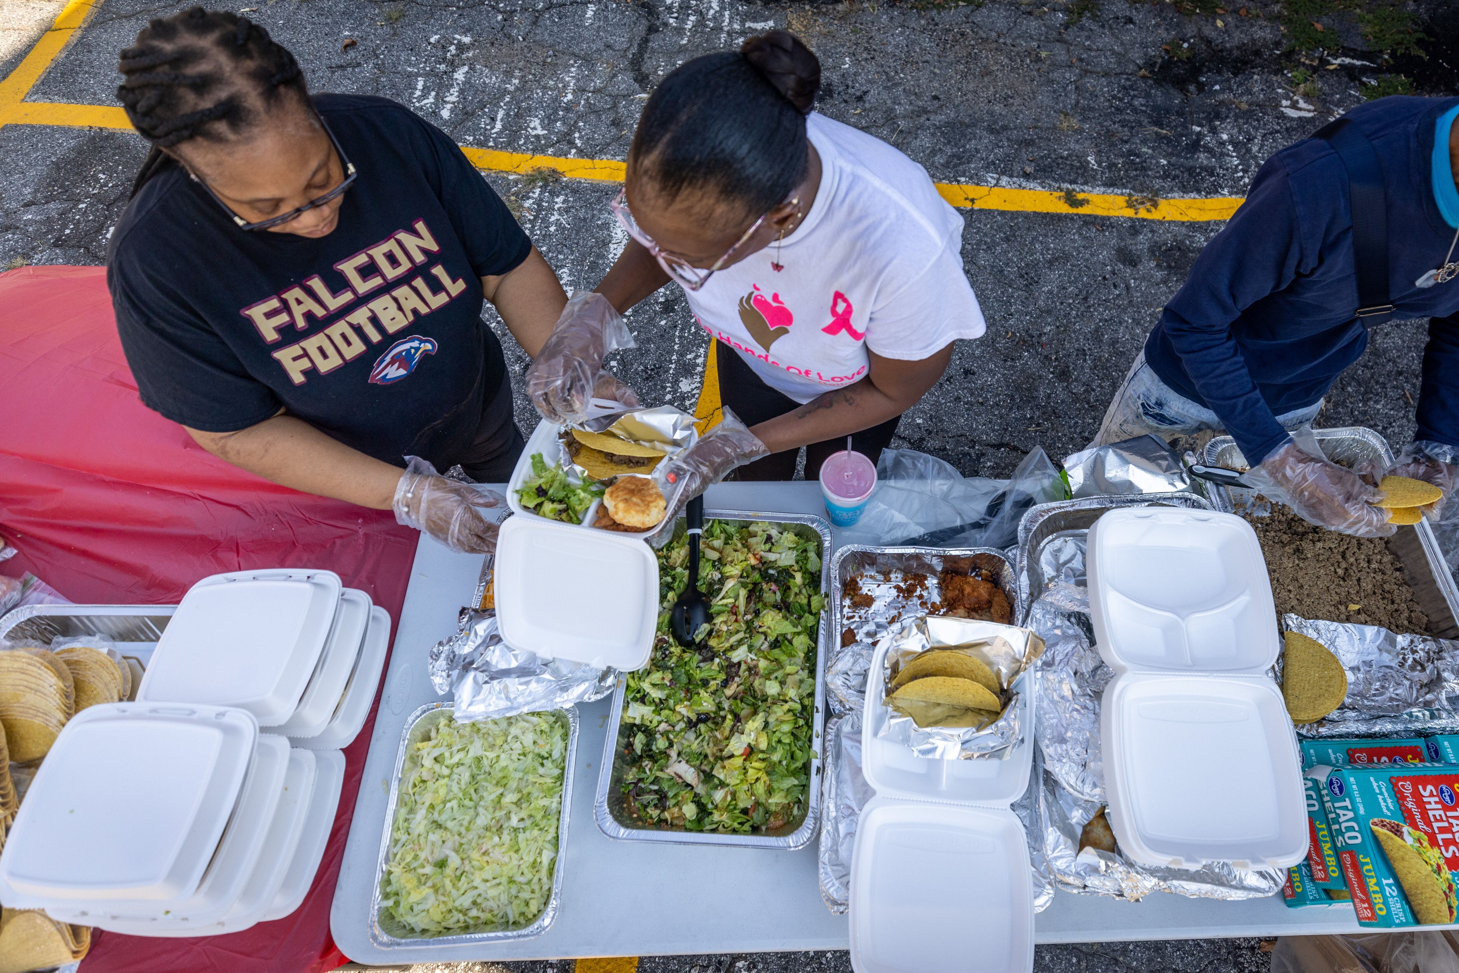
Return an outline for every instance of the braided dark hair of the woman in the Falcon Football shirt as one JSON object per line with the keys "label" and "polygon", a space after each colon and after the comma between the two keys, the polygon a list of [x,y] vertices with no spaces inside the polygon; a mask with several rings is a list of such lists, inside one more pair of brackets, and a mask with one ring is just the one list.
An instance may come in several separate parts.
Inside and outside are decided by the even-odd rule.
{"label": "braided dark hair of the woman in the Falcon Football shirt", "polygon": [[248,18],[191,7],[147,23],[121,53],[125,80],[117,98],[127,118],[152,143],[131,194],[174,158],[165,152],[190,139],[236,137],[289,93],[309,104],[303,71],[283,45]]}

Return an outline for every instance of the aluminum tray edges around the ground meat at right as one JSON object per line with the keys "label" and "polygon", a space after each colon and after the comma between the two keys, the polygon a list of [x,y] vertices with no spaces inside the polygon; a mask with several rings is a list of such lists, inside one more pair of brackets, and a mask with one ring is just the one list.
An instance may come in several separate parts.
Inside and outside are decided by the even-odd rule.
{"label": "aluminum tray edges around the ground meat at right", "polygon": [[[1345,426],[1338,429],[1313,429],[1317,445],[1328,460],[1350,467],[1360,460],[1382,458],[1393,461],[1393,451],[1388,441],[1371,429],[1363,426]],[[1204,462],[1211,467],[1227,467],[1228,470],[1246,470],[1246,457],[1242,455],[1236,441],[1230,436],[1217,436],[1205,446]],[[1245,487],[1226,487],[1208,483],[1207,490],[1217,511],[1236,513],[1250,508],[1255,490]],[[1430,633],[1440,639],[1459,639],[1459,588],[1455,586],[1453,575],[1444,562],[1443,551],[1439,550],[1439,538],[1434,537],[1428,521],[1420,521],[1412,527],[1399,527],[1393,537],[1383,541],[1388,550],[1398,557],[1404,566],[1404,581],[1414,589],[1414,598],[1425,616],[1428,616]]]}

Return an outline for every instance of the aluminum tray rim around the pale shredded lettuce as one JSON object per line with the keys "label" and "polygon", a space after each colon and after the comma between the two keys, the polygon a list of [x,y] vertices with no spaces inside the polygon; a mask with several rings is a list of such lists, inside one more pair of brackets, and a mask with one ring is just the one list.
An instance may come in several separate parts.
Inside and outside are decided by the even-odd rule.
{"label": "aluminum tray rim around the pale shredded lettuce", "polygon": [[547,926],[557,918],[562,906],[562,868],[568,849],[568,813],[572,810],[572,770],[578,761],[578,710],[554,709],[559,719],[568,724],[568,753],[562,775],[562,815],[557,818],[557,862],[552,875],[552,896],[547,897],[547,907],[537,919],[521,929],[495,929],[490,932],[457,932],[444,937],[426,937],[395,922],[385,915],[381,903],[381,883],[385,880],[385,865],[390,864],[390,836],[395,824],[395,801],[400,798],[400,779],[406,770],[406,757],[410,747],[419,743],[430,728],[444,719],[451,719],[451,703],[426,703],[406,718],[406,728],[400,735],[400,753],[395,754],[395,772],[390,779],[390,798],[385,802],[385,830],[379,837],[379,865],[375,868],[375,888],[369,902],[369,939],[376,950],[419,950],[422,947],[455,947],[490,942],[506,942],[512,939],[531,939],[547,931]]}

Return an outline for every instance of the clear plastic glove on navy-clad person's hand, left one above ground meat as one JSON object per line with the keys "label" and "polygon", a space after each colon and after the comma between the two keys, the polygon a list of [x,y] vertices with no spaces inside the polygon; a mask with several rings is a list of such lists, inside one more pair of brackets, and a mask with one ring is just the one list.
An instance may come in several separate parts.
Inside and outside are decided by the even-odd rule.
{"label": "clear plastic glove on navy-clad person's hand, left one above ground meat", "polygon": [[1245,476],[1259,493],[1285,503],[1309,524],[1354,537],[1390,537],[1398,530],[1388,522],[1386,509],[1373,506],[1383,499],[1382,490],[1347,467],[1303,452],[1296,442]]}

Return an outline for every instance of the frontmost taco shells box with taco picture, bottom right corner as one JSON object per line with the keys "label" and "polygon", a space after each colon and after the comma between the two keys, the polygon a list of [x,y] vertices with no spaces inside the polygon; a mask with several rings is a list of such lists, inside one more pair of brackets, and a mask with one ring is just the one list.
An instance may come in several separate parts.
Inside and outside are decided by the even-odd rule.
{"label": "frontmost taco shells box with taco picture, bottom right corner", "polygon": [[1459,767],[1334,767],[1322,802],[1360,925],[1455,922]]}

